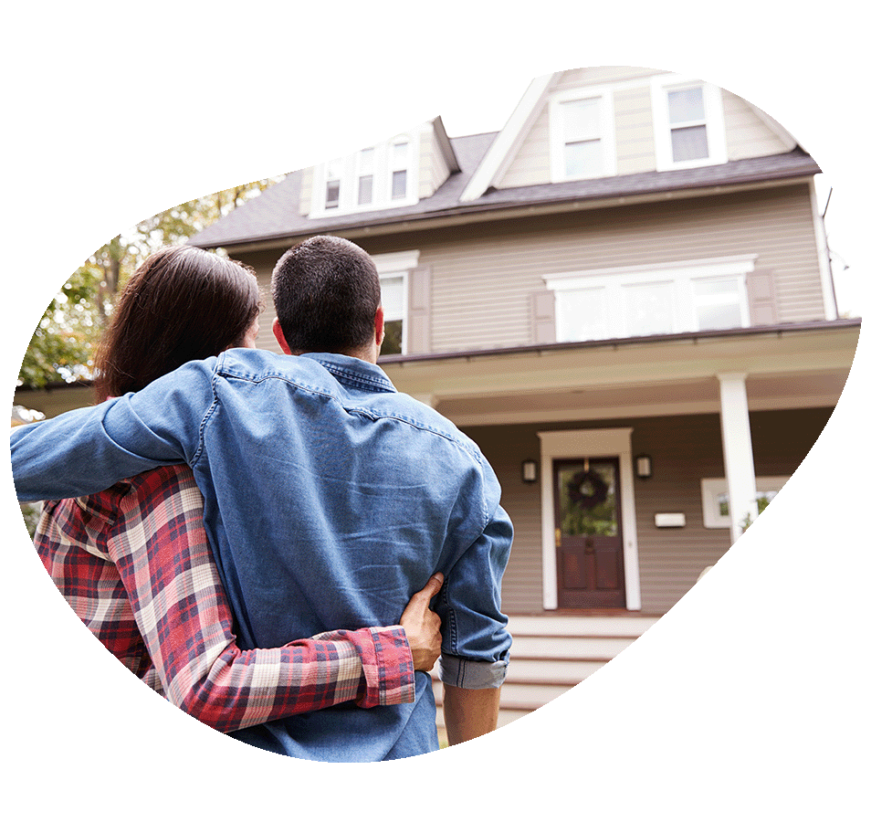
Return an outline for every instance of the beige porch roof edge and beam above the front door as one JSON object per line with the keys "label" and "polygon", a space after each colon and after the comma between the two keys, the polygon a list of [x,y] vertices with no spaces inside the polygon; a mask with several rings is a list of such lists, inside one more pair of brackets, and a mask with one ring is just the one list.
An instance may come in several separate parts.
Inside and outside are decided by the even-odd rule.
{"label": "beige porch roof edge and beam above the front door", "polygon": [[860,321],[383,357],[398,390],[457,425],[719,413],[718,374],[751,410],[834,406]]}

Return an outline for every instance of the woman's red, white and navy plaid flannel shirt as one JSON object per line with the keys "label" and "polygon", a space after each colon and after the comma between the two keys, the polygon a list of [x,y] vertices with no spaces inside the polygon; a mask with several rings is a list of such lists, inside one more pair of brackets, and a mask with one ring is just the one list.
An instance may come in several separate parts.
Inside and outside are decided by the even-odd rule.
{"label": "woman's red, white and navy plaid flannel shirt", "polygon": [[[354,700],[415,699],[402,627],[331,631],[243,651],[186,466],[45,504],[37,551],[81,620],[173,704],[229,732]],[[288,607],[292,607],[288,603]]]}

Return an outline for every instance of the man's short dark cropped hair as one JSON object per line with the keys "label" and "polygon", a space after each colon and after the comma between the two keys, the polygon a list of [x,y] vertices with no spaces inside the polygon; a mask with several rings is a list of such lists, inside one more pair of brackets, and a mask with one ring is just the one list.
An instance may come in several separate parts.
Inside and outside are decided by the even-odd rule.
{"label": "man's short dark cropped hair", "polygon": [[372,342],[381,281],[359,246],[310,237],[278,260],[272,300],[290,351],[353,353]]}

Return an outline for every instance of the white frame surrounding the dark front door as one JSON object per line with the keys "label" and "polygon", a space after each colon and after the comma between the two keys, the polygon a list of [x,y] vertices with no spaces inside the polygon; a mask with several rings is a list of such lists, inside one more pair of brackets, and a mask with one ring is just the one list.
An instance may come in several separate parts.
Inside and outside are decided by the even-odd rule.
{"label": "white frame surrounding the dark front door", "polygon": [[593,428],[582,431],[540,431],[541,442],[541,564],[545,610],[557,607],[555,523],[553,519],[553,461],[574,457],[616,457],[620,466],[620,505],[626,609],[641,609],[641,574],[635,520],[632,472],[632,428]]}

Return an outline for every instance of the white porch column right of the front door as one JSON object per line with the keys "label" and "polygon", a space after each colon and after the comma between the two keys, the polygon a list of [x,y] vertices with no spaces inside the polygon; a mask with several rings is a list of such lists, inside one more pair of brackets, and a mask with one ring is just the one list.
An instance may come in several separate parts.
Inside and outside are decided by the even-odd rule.
{"label": "white porch column right of the front door", "polygon": [[747,374],[717,374],[719,379],[719,420],[729,491],[729,520],[732,543],[744,532],[744,522],[759,514],[756,502],[756,469],[750,441],[750,411],[747,406]]}

